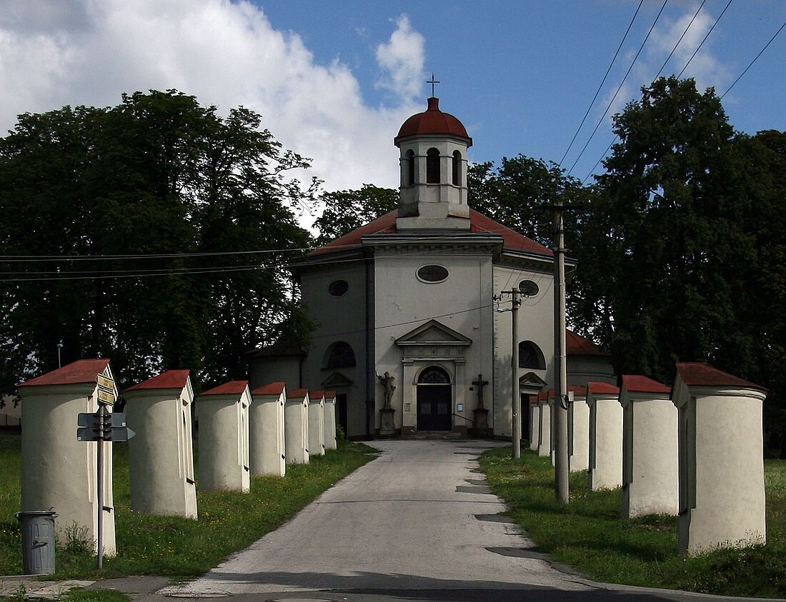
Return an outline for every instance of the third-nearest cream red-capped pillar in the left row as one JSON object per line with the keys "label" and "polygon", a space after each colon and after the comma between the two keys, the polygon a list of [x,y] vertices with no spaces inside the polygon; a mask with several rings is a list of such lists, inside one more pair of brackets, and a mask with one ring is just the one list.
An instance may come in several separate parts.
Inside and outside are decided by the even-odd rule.
{"label": "third-nearest cream red-capped pillar in the left row", "polygon": [[200,491],[248,491],[248,380],[230,380],[197,398]]}

